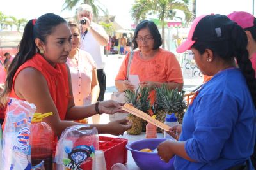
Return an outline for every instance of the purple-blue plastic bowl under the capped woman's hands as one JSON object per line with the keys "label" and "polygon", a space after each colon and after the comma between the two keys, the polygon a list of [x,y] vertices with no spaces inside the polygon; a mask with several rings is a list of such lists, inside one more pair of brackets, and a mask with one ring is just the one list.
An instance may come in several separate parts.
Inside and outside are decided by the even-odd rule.
{"label": "purple-blue plastic bowl under the capped woman's hands", "polygon": [[141,149],[149,148],[154,150],[159,143],[166,139],[142,139],[140,141],[134,141],[127,143],[126,148],[132,153],[134,162],[141,170],[174,170],[173,158],[168,163],[165,163],[157,153],[152,152],[140,152]]}

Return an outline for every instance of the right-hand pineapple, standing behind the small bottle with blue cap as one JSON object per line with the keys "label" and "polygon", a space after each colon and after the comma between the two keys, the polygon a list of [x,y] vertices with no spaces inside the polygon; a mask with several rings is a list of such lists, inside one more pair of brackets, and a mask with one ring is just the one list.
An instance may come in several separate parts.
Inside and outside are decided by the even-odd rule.
{"label": "right-hand pineapple, standing behind the small bottle with blue cap", "polygon": [[[155,87],[156,102],[154,104],[154,111],[156,112],[156,119],[164,122],[166,114],[175,113],[180,124],[186,109],[186,102],[184,101],[184,92],[179,92],[178,89],[170,89],[166,84],[161,87]],[[161,132],[161,129],[157,129]],[[162,131],[163,132],[163,131]]]}

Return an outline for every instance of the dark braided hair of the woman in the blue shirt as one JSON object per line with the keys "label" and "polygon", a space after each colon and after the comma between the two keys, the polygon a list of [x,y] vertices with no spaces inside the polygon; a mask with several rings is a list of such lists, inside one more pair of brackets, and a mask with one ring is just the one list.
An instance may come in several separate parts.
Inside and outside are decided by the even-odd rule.
{"label": "dark braided hair of the woman in the blue shirt", "polygon": [[196,42],[193,48],[198,50],[200,54],[203,54],[205,49],[208,48],[212,50],[214,56],[221,57],[226,62],[234,62],[234,57],[236,57],[239,69],[246,79],[253,103],[256,106],[255,71],[252,68],[252,62],[250,62],[248,51],[246,50],[247,36],[244,30],[234,23],[233,27],[230,27],[230,37],[231,39],[226,41]]}

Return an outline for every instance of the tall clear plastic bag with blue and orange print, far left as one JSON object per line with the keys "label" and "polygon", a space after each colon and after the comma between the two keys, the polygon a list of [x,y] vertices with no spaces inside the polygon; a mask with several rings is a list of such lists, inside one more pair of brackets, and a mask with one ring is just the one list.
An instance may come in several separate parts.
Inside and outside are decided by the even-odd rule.
{"label": "tall clear plastic bag with blue and orange print, far left", "polygon": [[31,169],[30,125],[34,104],[10,99],[3,132],[3,169]]}

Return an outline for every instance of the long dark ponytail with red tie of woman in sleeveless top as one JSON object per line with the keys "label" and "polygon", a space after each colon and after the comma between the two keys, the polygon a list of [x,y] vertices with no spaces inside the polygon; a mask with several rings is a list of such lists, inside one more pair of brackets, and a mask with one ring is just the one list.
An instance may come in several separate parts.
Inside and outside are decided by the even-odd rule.
{"label": "long dark ponytail with red tie of woman in sleeveless top", "polygon": [[63,18],[55,15],[54,13],[46,13],[37,20],[29,20],[24,28],[18,52],[8,68],[5,89],[0,94],[1,104],[6,103],[6,98],[12,90],[13,77],[17,69],[19,69],[22,64],[31,59],[35,53],[39,51],[35,44],[35,39],[39,38],[42,42],[47,43],[47,36],[51,35],[52,32],[55,31],[54,28],[57,25],[65,22],[66,21]]}

